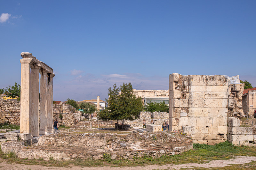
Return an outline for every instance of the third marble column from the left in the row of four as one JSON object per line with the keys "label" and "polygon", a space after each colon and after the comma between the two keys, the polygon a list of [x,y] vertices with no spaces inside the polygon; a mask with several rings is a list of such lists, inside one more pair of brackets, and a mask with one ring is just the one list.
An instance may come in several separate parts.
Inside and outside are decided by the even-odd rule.
{"label": "third marble column from the left in the row of four", "polygon": [[40,69],[40,123],[39,134],[47,134],[47,70]]}

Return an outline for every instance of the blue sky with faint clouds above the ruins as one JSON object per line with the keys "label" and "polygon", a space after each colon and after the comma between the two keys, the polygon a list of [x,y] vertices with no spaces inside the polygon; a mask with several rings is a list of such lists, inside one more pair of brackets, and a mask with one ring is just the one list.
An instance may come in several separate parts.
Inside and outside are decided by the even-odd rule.
{"label": "blue sky with faint clouds above the ruins", "polygon": [[53,68],[53,99],[107,98],[114,83],[163,89],[169,74],[240,75],[256,87],[256,1],[0,1],[0,88],[20,53]]}

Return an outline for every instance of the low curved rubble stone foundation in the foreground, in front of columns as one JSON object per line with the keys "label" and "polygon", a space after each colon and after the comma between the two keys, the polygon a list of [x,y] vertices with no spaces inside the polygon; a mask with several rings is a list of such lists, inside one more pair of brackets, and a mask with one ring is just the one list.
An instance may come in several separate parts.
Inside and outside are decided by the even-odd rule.
{"label": "low curved rubble stone foundation in the foreground, in front of columns", "polygon": [[177,133],[56,133],[39,137],[38,144],[26,148],[21,142],[6,142],[1,145],[4,153],[14,152],[19,158],[49,160],[133,159],[148,155],[160,157],[175,155],[192,149],[192,140]]}

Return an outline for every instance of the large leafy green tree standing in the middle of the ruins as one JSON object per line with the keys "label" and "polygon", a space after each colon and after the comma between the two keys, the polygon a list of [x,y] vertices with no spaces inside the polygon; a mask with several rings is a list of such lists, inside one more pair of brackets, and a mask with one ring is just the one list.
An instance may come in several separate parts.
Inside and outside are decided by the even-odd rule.
{"label": "large leafy green tree standing in the middle of the ruins", "polygon": [[108,88],[108,99],[106,99],[108,106],[99,113],[99,118],[102,120],[134,120],[143,110],[143,103],[141,98],[136,98],[133,95],[131,83],[123,83],[117,88],[116,84],[113,89]]}

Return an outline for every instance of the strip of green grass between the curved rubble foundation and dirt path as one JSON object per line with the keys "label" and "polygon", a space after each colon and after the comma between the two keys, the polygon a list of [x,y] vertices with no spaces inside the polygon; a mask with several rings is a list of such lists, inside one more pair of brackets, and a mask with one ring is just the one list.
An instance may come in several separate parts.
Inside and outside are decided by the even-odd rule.
{"label": "strip of green grass between the curved rubble foundation and dirt path", "polygon": [[[104,157],[105,160],[82,160],[75,159],[74,161],[45,161],[42,159],[20,159],[11,154],[4,154],[0,151],[0,157],[7,159],[8,162],[21,163],[27,165],[46,165],[46,166],[144,166],[152,164],[186,164],[186,163],[202,163],[210,160],[226,160],[234,158],[235,156],[256,156],[256,147],[249,146],[233,146],[230,143],[223,142],[216,145],[193,144],[193,150],[184,152],[180,155],[165,155],[160,158],[152,158],[143,156],[141,158],[135,157],[133,160],[111,160],[110,155]],[[255,162],[252,166],[255,166]],[[237,165],[236,165],[237,166]],[[224,168],[224,167],[223,167]],[[221,168],[216,168],[221,169]],[[224,169],[225,170],[225,169]],[[236,170],[236,169],[234,169]],[[247,170],[247,169],[245,169]]]}

